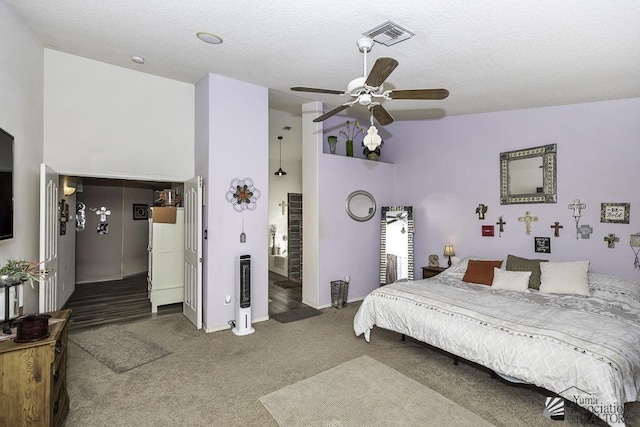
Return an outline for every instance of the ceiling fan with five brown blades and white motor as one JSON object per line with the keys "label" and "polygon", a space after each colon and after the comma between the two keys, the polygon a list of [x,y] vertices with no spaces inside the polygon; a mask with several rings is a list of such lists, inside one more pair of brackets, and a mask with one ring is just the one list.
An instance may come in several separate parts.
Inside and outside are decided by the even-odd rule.
{"label": "ceiling fan with five brown blades and white motor", "polygon": [[364,77],[358,77],[351,80],[347,85],[346,91],[333,90],[333,89],[320,89],[313,87],[295,86],[291,90],[297,92],[313,92],[313,93],[328,93],[332,95],[348,95],[354,98],[351,101],[334,108],[333,110],[321,115],[314,119],[314,122],[321,122],[329,117],[338,114],[340,111],[345,110],[356,103],[363,105],[369,109],[371,115],[382,126],[393,123],[393,117],[391,114],[378,102],[379,98],[382,99],[428,99],[428,100],[440,100],[449,96],[447,89],[404,89],[404,90],[384,90],[382,84],[398,66],[398,61],[393,58],[378,58],[376,63],[373,64],[373,68],[369,75],[367,75],[367,52],[373,47],[373,39],[370,37],[362,37],[358,39],[358,49],[364,53]]}

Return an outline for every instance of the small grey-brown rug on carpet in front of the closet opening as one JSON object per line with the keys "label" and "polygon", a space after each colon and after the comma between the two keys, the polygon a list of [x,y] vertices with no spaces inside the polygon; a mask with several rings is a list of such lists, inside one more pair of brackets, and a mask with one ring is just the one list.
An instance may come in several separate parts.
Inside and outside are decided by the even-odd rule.
{"label": "small grey-brown rug on carpet in front of the closet opening", "polygon": [[171,354],[120,325],[70,333],[69,340],[118,374]]}

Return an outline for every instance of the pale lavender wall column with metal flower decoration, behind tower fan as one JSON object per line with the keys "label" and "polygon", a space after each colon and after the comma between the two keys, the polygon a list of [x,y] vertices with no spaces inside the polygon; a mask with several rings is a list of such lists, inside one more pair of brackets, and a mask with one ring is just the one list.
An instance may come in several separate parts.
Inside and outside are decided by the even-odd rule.
{"label": "pale lavender wall column with metal flower decoration, behind tower fan", "polygon": [[[268,90],[208,74],[196,84],[196,104],[208,113],[196,114],[196,144],[199,155],[209,147],[208,164],[198,170],[207,169],[204,323],[212,331],[228,328],[235,319],[236,258],[242,254],[252,257],[252,318],[268,318]],[[255,210],[238,213],[225,199],[234,178],[253,180],[261,193]],[[240,243],[243,219],[246,243]],[[227,295],[232,304],[225,305]]]}

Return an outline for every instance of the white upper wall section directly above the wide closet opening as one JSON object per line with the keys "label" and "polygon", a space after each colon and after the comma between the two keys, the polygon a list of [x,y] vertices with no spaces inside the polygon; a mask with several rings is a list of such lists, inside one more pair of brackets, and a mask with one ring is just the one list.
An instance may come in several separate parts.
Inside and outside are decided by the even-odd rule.
{"label": "white upper wall section directly above the wide closet opening", "polygon": [[44,160],[67,175],[194,176],[193,85],[44,50]]}

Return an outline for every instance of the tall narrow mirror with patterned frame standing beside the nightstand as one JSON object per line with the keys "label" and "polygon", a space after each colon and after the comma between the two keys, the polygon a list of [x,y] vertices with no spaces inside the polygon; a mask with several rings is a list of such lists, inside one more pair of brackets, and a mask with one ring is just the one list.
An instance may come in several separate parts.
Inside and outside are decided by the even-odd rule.
{"label": "tall narrow mirror with patterned frame standing beside the nightstand", "polygon": [[380,221],[380,285],[413,280],[413,208],[384,206]]}

